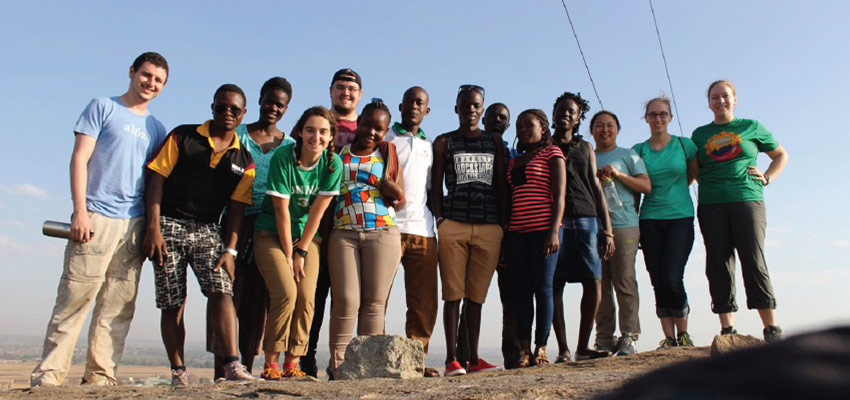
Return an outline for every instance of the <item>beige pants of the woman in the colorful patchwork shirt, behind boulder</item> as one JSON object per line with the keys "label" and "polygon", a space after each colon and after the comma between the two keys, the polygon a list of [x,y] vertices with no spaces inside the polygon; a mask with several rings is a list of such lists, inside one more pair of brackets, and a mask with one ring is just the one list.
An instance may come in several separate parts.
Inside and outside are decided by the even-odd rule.
{"label": "beige pants of the woman in the colorful patchwork shirt, behind boulder", "polygon": [[328,243],[331,275],[331,368],[345,360],[354,321],[357,335],[384,333],[386,303],[401,258],[395,226],[366,232],[334,229]]}

